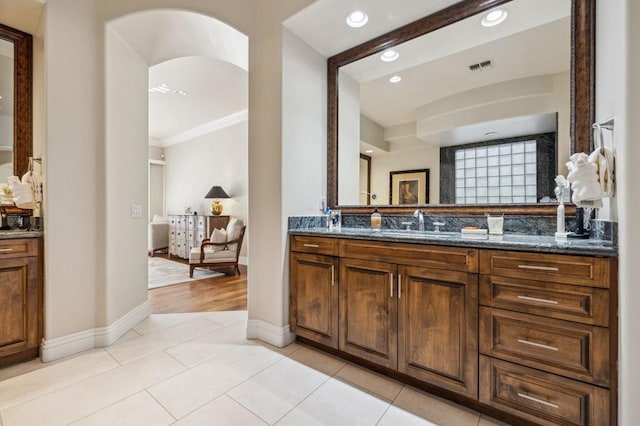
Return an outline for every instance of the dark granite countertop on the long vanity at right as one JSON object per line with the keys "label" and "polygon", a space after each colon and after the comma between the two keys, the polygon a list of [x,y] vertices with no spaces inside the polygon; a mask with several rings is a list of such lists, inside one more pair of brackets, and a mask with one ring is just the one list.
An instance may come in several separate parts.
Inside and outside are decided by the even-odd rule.
{"label": "dark granite countertop on the long vanity at right", "polygon": [[299,228],[290,229],[289,233],[291,235],[313,235],[332,238],[435,244],[441,246],[535,251],[540,253],[599,257],[618,256],[618,248],[610,241],[591,239],[556,241],[555,237],[546,235],[504,234],[463,236],[459,232],[419,232],[386,229],[382,231],[372,231],[368,228],[342,228],[340,231],[329,231],[326,228]]}

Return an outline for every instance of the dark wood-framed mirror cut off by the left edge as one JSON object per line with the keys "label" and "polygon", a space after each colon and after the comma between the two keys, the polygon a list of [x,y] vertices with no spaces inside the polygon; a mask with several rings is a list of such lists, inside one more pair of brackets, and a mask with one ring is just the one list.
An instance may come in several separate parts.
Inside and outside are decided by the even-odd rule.
{"label": "dark wood-framed mirror cut off by the left edge", "polygon": [[29,169],[32,64],[31,35],[0,25],[0,182]]}

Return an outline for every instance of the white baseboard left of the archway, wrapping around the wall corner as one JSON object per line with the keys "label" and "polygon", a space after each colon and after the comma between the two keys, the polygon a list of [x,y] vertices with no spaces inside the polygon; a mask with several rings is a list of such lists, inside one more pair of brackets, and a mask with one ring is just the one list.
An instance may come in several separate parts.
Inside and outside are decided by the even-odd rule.
{"label": "white baseboard left of the archway, wrapping around the wall corner", "polygon": [[83,330],[54,339],[42,339],[40,359],[42,362],[55,361],[89,349],[112,345],[150,314],[151,304],[147,300],[107,327]]}

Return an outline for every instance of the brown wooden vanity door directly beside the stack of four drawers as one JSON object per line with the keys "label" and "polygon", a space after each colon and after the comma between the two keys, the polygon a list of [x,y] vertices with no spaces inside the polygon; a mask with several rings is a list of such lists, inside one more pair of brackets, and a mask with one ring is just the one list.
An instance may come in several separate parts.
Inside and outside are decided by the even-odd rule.
{"label": "brown wooden vanity door directly beside the stack of four drawers", "polygon": [[400,266],[398,370],[478,397],[478,278]]}

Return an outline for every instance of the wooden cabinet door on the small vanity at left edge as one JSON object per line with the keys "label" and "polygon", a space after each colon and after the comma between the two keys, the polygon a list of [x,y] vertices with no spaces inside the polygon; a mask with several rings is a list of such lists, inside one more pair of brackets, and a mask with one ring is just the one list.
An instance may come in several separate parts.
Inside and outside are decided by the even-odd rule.
{"label": "wooden cabinet door on the small vanity at left edge", "polygon": [[0,260],[0,358],[29,349],[37,351],[40,343],[37,276],[35,257]]}

